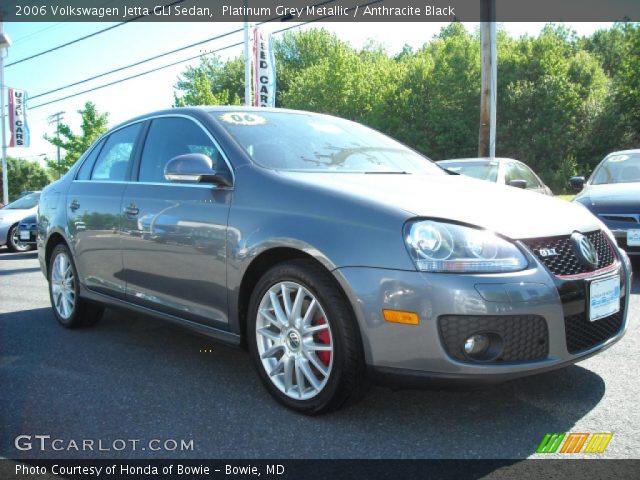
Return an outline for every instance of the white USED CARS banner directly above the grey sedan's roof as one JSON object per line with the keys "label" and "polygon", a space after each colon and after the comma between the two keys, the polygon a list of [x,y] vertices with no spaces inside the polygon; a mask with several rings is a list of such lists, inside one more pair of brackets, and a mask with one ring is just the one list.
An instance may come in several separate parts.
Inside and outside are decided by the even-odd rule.
{"label": "white USED CARS banner directly above the grey sedan's roof", "polygon": [[253,105],[276,106],[276,62],[271,34],[253,29]]}

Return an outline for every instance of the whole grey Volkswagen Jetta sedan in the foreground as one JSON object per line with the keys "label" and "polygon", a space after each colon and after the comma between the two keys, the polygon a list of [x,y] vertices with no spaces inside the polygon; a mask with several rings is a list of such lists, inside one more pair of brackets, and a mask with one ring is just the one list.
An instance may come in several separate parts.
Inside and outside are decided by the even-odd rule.
{"label": "whole grey Volkswagen Jetta sedan in the foreground", "polygon": [[307,413],[368,376],[565,366],[626,327],[628,258],[587,210],[449,175],[324,115],[138,117],[43,192],[38,222],[64,326],[118,305],[246,345],[267,389]]}

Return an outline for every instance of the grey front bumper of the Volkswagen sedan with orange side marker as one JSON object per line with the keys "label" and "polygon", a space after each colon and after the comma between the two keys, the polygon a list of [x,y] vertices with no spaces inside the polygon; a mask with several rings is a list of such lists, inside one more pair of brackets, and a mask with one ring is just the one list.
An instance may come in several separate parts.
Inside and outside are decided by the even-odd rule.
{"label": "grey front bumper of the Volkswagen sedan with orange side marker", "polygon": [[[366,267],[340,268],[334,274],[354,308],[365,360],[374,377],[402,375],[418,380],[426,377],[491,382],[560,368],[618,341],[626,330],[630,285],[626,256],[620,253],[619,260],[604,272],[569,280],[553,276],[535,260],[533,268],[499,275],[429,274]],[[576,343],[575,319],[586,314],[589,282],[615,274],[621,279],[619,325],[614,322],[613,333],[607,332],[602,339],[593,337],[595,343]],[[420,322],[418,325],[387,322],[383,309],[415,312]],[[546,324],[547,343],[542,355],[540,349],[532,355],[534,360],[483,362],[456,358],[443,337],[444,317],[498,319],[502,326],[515,321],[526,325],[527,318],[541,317]],[[570,324],[572,319],[574,323]],[[583,320],[587,322],[585,327],[591,328],[607,319]],[[527,332],[517,334],[525,343],[531,337]],[[579,340],[581,334],[578,331]],[[523,355],[526,358],[528,351]]]}

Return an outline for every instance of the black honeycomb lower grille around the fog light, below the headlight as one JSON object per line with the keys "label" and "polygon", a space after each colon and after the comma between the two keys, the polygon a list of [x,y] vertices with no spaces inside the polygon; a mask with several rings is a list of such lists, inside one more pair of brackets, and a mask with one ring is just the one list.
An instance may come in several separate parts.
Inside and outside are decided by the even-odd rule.
{"label": "black honeycomb lower grille around the fog light, below the headlight", "polygon": [[495,333],[503,341],[501,355],[484,363],[542,360],[549,353],[547,322],[538,315],[443,315],[438,318],[438,331],[447,353],[463,362],[473,362],[463,347],[476,333]]}

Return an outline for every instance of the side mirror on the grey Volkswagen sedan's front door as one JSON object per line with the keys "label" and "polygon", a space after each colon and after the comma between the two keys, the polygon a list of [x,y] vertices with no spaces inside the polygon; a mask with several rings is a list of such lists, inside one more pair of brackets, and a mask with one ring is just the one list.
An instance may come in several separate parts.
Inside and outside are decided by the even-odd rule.
{"label": "side mirror on the grey Volkswagen sedan's front door", "polygon": [[226,172],[213,169],[213,160],[202,153],[178,155],[167,162],[164,178],[176,183],[211,183],[230,187],[233,182]]}

